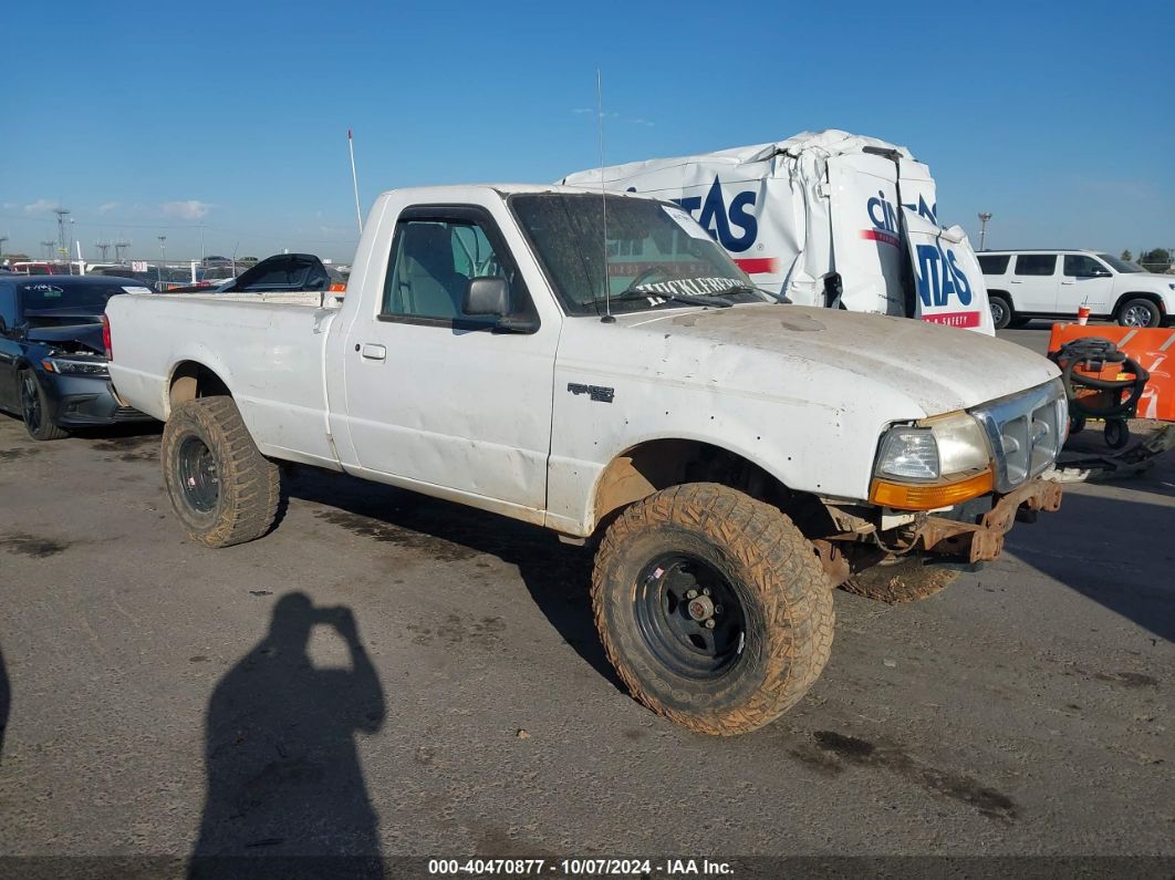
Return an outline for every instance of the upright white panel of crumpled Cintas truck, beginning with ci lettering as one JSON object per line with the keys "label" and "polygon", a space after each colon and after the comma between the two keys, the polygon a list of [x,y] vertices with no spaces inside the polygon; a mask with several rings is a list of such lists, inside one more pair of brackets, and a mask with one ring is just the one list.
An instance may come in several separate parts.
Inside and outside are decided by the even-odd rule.
{"label": "upright white panel of crumpled Cintas truck, beginning with ci lettering", "polygon": [[832,266],[845,308],[906,314],[897,164],[870,153],[832,156],[828,190]]}

